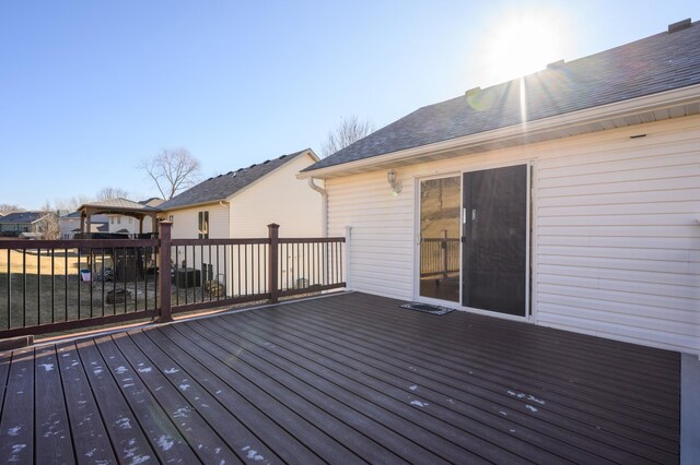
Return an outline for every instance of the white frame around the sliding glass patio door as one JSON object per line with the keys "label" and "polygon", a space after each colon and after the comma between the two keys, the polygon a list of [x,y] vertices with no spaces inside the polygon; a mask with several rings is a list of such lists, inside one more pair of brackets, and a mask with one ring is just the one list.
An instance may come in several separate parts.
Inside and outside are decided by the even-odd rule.
{"label": "white frame around the sliding glass patio door", "polygon": [[[428,181],[431,179],[441,179],[441,178],[450,178],[454,176],[459,176],[459,227],[464,226],[465,220],[465,211],[464,211],[464,175],[466,172],[472,171],[482,171],[493,168],[503,168],[508,166],[517,166],[517,165],[526,165],[527,166],[527,183],[526,183],[526,201],[525,201],[525,317],[512,315],[500,313],[491,310],[481,310],[471,307],[464,307],[462,305],[462,293],[463,293],[463,279],[464,279],[464,243],[459,241],[459,301],[453,302],[450,300],[441,300],[434,299],[431,297],[422,297],[420,295],[420,210],[421,210],[421,182]],[[430,175],[420,176],[417,175],[413,177],[413,270],[412,270],[412,296],[415,301],[421,301],[425,303],[439,305],[442,307],[454,308],[456,310],[468,311],[470,313],[483,314],[487,317],[495,317],[502,318],[505,320],[515,320],[515,321],[528,321],[536,322],[536,309],[533,305],[533,301],[537,301],[534,299],[535,293],[533,288],[536,288],[536,283],[533,276],[535,275],[535,270],[533,267],[533,255],[535,249],[535,241],[533,233],[533,226],[535,220],[535,212],[533,210],[533,196],[535,195],[534,184],[536,182],[535,176],[537,172],[536,159],[526,158],[526,159],[517,159],[511,162],[502,162],[502,163],[492,163],[492,164],[480,164],[474,165],[469,167],[462,167],[459,170],[445,170],[445,171],[434,171]]]}

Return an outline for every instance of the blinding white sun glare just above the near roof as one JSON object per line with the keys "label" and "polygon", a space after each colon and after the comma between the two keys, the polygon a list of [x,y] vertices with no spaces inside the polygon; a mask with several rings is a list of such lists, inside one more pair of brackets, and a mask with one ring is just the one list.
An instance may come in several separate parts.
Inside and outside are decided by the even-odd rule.
{"label": "blinding white sun glare just above the near roof", "polygon": [[481,44],[481,87],[542,70],[563,57],[568,33],[563,19],[545,11],[513,11],[495,21]]}

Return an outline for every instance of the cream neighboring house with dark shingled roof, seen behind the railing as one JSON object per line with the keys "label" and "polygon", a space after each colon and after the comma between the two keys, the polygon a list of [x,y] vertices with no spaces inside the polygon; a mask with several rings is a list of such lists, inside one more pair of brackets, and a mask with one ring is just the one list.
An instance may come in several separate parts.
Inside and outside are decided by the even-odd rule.
{"label": "cream neighboring house with dark shingled roof, seen behind the railing", "polygon": [[[280,237],[318,237],[322,196],[310,189],[307,181],[296,179],[299,171],[316,162],[318,157],[307,148],[209,178],[160,204],[159,216],[173,223],[174,239],[264,238],[271,223],[280,225]],[[233,263],[237,260],[236,250],[229,257]],[[190,252],[194,255],[186,257],[184,248],[179,248],[173,261],[188,267],[203,267],[208,270],[208,278],[220,275],[217,263],[223,269],[223,248],[218,261],[215,257],[206,257],[206,262],[212,263],[203,266],[199,252],[191,248]],[[257,253],[257,250],[249,252]],[[262,263],[262,257],[257,259],[256,263]],[[293,259],[290,257],[290,266]],[[221,272],[223,274],[223,270]],[[282,279],[287,273],[290,271],[282,272]],[[233,283],[228,286],[234,295],[237,293]]]}

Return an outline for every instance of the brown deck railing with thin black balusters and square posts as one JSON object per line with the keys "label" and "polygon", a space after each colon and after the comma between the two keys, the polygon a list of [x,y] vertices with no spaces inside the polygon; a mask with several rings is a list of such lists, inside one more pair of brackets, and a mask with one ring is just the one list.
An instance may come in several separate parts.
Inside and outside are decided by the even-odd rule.
{"label": "brown deck railing with thin black balusters and square posts", "polygon": [[[345,287],[345,238],[0,240],[0,338]],[[163,272],[161,272],[163,271]]]}

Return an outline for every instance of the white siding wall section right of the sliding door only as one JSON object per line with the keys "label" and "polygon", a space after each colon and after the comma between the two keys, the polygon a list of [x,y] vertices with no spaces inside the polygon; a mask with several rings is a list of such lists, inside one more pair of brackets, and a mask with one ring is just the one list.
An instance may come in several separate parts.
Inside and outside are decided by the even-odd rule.
{"label": "white siding wall section right of the sliding door only", "polygon": [[540,159],[540,324],[698,351],[700,129],[689,120]]}

